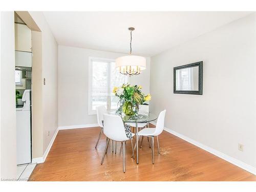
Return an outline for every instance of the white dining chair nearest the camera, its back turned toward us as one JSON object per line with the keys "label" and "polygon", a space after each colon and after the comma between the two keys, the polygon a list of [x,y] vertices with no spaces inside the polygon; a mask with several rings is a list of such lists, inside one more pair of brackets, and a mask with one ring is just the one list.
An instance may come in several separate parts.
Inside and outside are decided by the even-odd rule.
{"label": "white dining chair nearest the camera, its back turned toward us", "polygon": [[[121,142],[123,146],[123,172],[125,172],[125,145],[127,140],[131,140],[132,145],[132,155],[134,157],[134,150],[133,150],[133,141],[132,138],[135,135],[134,133],[131,133],[131,130],[129,132],[129,137],[127,137],[125,133],[125,127],[123,124],[123,121],[120,116],[118,115],[110,115],[110,114],[104,114],[104,129],[103,133],[107,137],[105,150],[103,152],[103,156],[101,159],[101,164],[104,161],[104,157],[109,145],[109,141],[115,141],[115,142]],[[127,125],[126,125],[127,126]]]}

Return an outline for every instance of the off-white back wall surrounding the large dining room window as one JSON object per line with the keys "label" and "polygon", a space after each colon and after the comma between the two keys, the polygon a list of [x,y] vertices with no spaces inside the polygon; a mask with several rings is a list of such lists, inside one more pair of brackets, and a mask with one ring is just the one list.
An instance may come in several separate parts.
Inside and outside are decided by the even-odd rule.
{"label": "off-white back wall surrounding the large dining room window", "polygon": [[[124,54],[58,47],[58,125],[83,125],[97,123],[96,115],[88,115],[88,65],[89,57],[115,59]],[[131,77],[131,84],[141,84],[143,92],[150,91],[150,58],[147,69]]]}

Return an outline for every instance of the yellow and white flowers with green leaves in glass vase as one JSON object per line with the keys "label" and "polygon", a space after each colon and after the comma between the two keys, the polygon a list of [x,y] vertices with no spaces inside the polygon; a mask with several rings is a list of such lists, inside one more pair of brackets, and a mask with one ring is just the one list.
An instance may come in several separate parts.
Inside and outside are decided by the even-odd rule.
{"label": "yellow and white flowers with green leaves in glass vase", "polygon": [[120,107],[117,113],[122,112],[125,115],[132,116],[138,113],[139,104],[151,100],[151,95],[146,96],[141,92],[141,86],[131,86],[130,84],[123,84],[121,87],[114,87],[113,93],[119,97]]}

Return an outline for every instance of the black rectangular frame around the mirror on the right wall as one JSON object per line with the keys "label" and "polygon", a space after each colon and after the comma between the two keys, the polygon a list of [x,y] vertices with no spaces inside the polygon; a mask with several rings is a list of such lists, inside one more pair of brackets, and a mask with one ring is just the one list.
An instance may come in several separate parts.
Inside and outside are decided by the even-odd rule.
{"label": "black rectangular frame around the mirror on the right wall", "polygon": [[[185,90],[176,90],[176,71],[185,68],[191,67],[199,67],[199,75],[198,75],[198,91],[185,91]],[[174,68],[174,93],[179,94],[194,94],[194,95],[202,95],[203,94],[203,61],[190,63],[188,65],[179,66]]]}

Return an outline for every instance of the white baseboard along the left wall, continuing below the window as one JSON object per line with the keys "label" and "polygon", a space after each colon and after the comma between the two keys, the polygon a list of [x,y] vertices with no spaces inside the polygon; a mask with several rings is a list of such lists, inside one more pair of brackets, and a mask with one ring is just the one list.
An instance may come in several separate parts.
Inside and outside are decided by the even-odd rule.
{"label": "white baseboard along the left wall, continuing below the window", "polygon": [[48,147],[47,147],[47,149],[44,153],[44,156],[38,157],[38,158],[33,158],[32,163],[44,163],[45,162],[59,130],[80,129],[80,128],[95,127],[95,126],[99,126],[99,125],[97,123],[92,123],[92,124],[82,124],[82,125],[59,126],[56,129],[56,131],[55,131],[55,133],[54,133],[54,135],[53,135],[53,137],[52,137],[52,139],[51,139],[51,141],[50,141],[50,143],[49,143],[49,145],[48,145]]}

